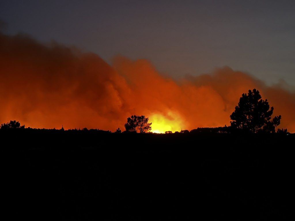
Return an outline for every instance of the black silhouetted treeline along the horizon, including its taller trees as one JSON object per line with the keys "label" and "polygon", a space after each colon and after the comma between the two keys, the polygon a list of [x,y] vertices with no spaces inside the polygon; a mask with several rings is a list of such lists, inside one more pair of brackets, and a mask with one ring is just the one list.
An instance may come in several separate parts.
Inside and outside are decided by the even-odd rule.
{"label": "black silhouetted treeline along the horizon, including its taller trees", "polygon": [[[281,123],[281,115],[271,118],[274,108],[269,106],[267,99],[262,100],[259,91],[255,88],[253,91],[249,90],[248,94],[243,93],[238,105],[235,107],[235,111],[230,115],[230,126],[215,127],[215,128],[196,128],[191,131],[181,130],[174,133],[284,133],[288,134],[287,129],[277,128]],[[125,133],[151,133],[151,125],[149,118],[144,115],[132,115],[127,118],[125,123]],[[0,130],[11,129],[29,129],[24,125],[20,125],[18,121],[10,121],[8,123],[1,124]],[[39,130],[39,129],[33,129]],[[42,129],[46,130],[46,129]],[[55,130],[55,129],[53,129]],[[64,131],[64,128],[60,129]],[[90,131],[90,133],[112,133],[111,131],[103,131],[98,129],[83,128],[71,129],[68,131]],[[123,133],[124,133],[123,132]],[[122,133],[118,128],[114,133]],[[165,133],[172,133],[172,131],[165,131]]]}

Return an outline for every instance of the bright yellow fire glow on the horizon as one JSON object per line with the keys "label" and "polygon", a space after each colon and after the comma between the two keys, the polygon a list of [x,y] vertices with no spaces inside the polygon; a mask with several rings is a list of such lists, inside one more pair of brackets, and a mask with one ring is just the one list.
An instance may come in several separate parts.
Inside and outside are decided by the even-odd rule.
{"label": "bright yellow fire glow on the horizon", "polygon": [[152,122],[153,133],[181,131],[182,120],[177,113],[168,112],[166,116],[156,113],[151,115],[149,121]]}

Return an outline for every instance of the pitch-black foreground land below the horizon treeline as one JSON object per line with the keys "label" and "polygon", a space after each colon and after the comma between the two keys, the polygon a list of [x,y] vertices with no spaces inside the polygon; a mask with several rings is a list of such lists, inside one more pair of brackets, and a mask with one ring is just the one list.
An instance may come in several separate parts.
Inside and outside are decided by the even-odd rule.
{"label": "pitch-black foreground land below the horizon treeline", "polygon": [[0,138],[2,209],[12,220],[294,215],[294,134],[19,130]]}

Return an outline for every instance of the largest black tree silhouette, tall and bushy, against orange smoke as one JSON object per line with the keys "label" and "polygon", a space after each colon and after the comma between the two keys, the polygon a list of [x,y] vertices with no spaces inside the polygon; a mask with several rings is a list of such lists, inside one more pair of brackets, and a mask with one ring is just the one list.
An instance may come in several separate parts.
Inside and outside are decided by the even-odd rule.
{"label": "largest black tree silhouette, tall and bushy, against orange smoke", "polygon": [[275,132],[280,124],[281,115],[271,120],[273,107],[269,110],[267,99],[262,100],[259,91],[249,90],[248,95],[243,93],[235,111],[230,115],[231,127],[244,132]]}

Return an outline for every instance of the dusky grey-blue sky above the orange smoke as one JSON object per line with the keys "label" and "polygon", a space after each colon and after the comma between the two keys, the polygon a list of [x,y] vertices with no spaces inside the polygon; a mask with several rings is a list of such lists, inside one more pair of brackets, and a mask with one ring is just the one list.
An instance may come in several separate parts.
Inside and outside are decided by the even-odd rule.
{"label": "dusky grey-blue sky above the orange smoke", "polygon": [[0,1],[2,32],[146,58],[173,77],[230,66],[295,86],[295,1]]}

